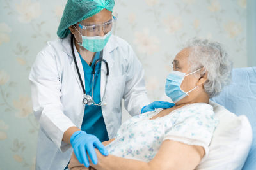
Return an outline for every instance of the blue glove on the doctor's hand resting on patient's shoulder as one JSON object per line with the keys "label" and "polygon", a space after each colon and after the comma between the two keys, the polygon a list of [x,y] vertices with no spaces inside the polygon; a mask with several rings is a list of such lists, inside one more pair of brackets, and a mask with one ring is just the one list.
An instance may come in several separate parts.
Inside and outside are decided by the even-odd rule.
{"label": "blue glove on the doctor's hand resting on patient's shoulder", "polygon": [[145,113],[148,111],[154,111],[156,108],[163,108],[163,109],[172,108],[174,105],[175,105],[175,103],[170,103],[167,101],[154,101],[154,102],[144,106],[141,109],[141,113]]}

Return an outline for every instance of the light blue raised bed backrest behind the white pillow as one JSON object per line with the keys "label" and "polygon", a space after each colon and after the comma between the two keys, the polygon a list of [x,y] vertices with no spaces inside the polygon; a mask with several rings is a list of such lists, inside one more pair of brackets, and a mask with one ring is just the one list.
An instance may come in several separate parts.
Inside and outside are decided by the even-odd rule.
{"label": "light blue raised bed backrest behind the white pillow", "polygon": [[232,71],[232,83],[211,99],[236,115],[246,115],[253,131],[250,152],[243,170],[256,169],[256,67]]}

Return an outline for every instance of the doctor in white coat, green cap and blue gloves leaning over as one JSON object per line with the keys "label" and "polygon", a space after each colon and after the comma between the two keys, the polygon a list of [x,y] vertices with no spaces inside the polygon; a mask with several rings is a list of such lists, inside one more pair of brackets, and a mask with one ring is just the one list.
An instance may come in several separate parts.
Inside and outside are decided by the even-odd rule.
{"label": "doctor in white coat, green cap and blue gloves leaning over", "polygon": [[122,98],[132,116],[170,108],[170,103],[149,104],[140,61],[126,41],[112,35],[114,4],[68,0],[60,38],[36,57],[29,80],[40,124],[38,170],[66,169],[73,150],[86,167],[87,153],[97,164],[95,148],[108,155],[100,141],[112,139],[120,127]]}

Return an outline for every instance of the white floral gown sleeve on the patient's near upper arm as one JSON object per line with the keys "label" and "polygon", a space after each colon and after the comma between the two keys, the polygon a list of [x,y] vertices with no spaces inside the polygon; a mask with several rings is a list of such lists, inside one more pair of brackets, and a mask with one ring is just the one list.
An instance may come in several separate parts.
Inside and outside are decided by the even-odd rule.
{"label": "white floral gown sleeve on the patient's near upper arm", "polygon": [[171,119],[165,125],[163,140],[170,139],[187,145],[202,146],[205,150],[205,158],[209,153],[209,145],[217,124],[218,120],[212,115],[207,115],[207,113],[197,112],[191,113],[188,116],[183,114],[177,119]]}

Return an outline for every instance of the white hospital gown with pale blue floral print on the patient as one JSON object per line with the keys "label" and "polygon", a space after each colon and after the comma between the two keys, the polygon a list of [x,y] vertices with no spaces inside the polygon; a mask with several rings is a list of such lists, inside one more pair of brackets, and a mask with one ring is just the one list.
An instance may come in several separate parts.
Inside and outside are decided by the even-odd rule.
{"label": "white hospital gown with pale blue floral print on the patient", "polygon": [[[188,104],[172,113],[150,120],[163,109],[143,113],[121,125],[115,141],[106,146],[109,153],[118,157],[149,162],[166,139],[188,145],[202,146],[205,157],[218,119],[210,104]],[[203,161],[203,160],[202,160]]]}

